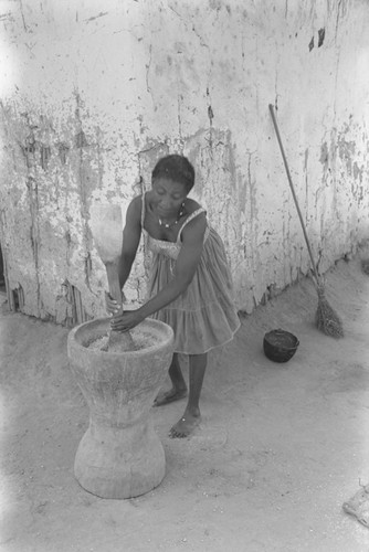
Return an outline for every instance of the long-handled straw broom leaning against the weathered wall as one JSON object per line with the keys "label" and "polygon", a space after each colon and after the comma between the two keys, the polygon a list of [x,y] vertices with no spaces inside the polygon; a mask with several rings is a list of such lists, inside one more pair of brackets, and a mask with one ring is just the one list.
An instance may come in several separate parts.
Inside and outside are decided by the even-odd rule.
{"label": "long-handled straw broom leaning against the weathered wall", "polygon": [[282,144],[282,139],[281,139],[281,135],[280,135],[280,130],[278,130],[278,126],[277,126],[277,121],[276,121],[276,118],[275,118],[274,108],[273,108],[272,104],[270,104],[270,112],[271,112],[271,116],[272,116],[272,120],[273,120],[275,134],[276,134],[276,137],[277,137],[277,140],[278,140],[278,145],[280,145],[280,149],[281,149],[283,162],[284,162],[284,166],[285,166],[285,169],[286,169],[289,188],[291,188],[292,195],[294,198],[294,202],[295,202],[295,205],[296,205],[296,209],[297,209],[297,214],[298,214],[298,217],[299,217],[299,222],[301,222],[302,227],[303,227],[304,237],[305,237],[306,245],[307,245],[307,251],[308,251],[308,254],[309,254],[309,257],[310,257],[310,261],[312,261],[313,273],[314,273],[314,276],[315,276],[314,284],[315,284],[315,287],[316,287],[316,290],[317,290],[317,294],[318,294],[318,307],[317,307],[317,311],[316,311],[316,315],[315,315],[315,321],[316,321],[317,328],[320,331],[323,331],[324,333],[326,333],[327,336],[330,336],[333,338],[342,338],[344,337],[342,322],[341,322],[339,316],[337,315],[337,312],[335,311],[335,309],[333,309],[330,307],[329,302],[327,301],[327,299],[325,297],[324,282],[323,282],[323,278],[320,277],[320,275],[318,274],[318,270],[317,270],[315,262],[314,262],[310,243],[309,243],[309,240],[307,237],[307,232],[306,232],[306,229],[305,229],[304,219],[303,219],[301,209],[298,206],[298,201],[297,201],[297,197],[296,197],[296,193],[295,193],[295,188],[294,188],[294,184],[292,182],[292,178],[291,178],[291,173],[289,173],[289,169],[288,169],[288,164],[287,164],[287,159],[286,159],[286,156],[285,156],[285,152],[284,152],[284,149],[283,149],[283,144]]}

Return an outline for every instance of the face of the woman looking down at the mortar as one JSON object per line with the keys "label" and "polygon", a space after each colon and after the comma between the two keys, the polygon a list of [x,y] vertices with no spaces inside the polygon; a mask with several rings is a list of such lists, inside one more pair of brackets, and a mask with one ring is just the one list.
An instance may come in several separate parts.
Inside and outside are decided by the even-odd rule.
{"label": "face of the woman looking down at the mortar", "polygon": [[152,180],[152,192],[154,208],[162,219],[177,216],[187,198],[186,185],[167,178]]}

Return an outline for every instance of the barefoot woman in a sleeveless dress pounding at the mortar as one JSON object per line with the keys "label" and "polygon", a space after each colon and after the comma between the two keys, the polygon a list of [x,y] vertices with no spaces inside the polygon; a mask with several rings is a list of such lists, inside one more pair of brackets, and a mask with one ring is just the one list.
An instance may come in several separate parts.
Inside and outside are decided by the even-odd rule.
{"label": "barefoot woman in a sleeveless dress pounding at the mortar", "polygon": [[149,299],[140,308],[116,315],[117,304],[107,295],[112,329],[128,331],[147,317],[175,331],[175,354],[169,368],[171,390],[156,406],[187,395],[178,353],[189,355],[189,395],[182,417],[169,435],[187,437],[201,421],[199,401],[207,353],[230,341],[240,327],[233,304],[232,282],[223,243],[208,225],[204,209],[188,198],[194,170],[186,157],[171,155],[152,170],[151,190],[135,198],[127,210],[119,262],[125,285],[136,257],[141,232],[152,252]]}

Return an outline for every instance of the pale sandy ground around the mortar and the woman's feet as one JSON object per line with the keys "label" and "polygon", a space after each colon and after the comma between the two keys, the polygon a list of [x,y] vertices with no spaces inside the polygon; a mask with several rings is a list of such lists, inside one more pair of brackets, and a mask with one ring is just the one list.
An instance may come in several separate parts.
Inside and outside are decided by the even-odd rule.
{"label": "pale sandy ground around the mortar and the woman's feet", "polygon": [[[1,552],[369,551],[369,529],[342,511],[369,482],[369,276],[359,258],[330,272],[327,298],[342,340],[315,328],[308,279],[243,319],[210,355],[191,438],[167,436],[183,401],[152,408],[167,474],[129,500],[97,498],[74,478],[88,410],[68,368],[67,330],[4,302]],[[280,327],[301,341],[286,364],[262,349]]]}

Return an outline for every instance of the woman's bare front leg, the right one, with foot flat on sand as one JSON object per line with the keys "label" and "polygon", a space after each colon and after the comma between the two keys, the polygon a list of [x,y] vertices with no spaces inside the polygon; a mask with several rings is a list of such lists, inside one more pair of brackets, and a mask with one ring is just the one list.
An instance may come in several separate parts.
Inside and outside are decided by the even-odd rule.
{"label": "woman's bare front leg, the right one, with foot flat on sand", "polygon": [[208,354],[190,354],[190,393],[183,416],[169,432],[170,437],[188,437],[200,424],[200,395],[207,369]]}

